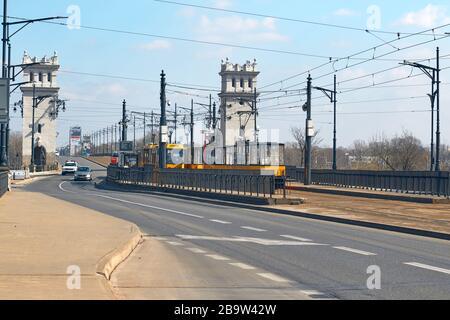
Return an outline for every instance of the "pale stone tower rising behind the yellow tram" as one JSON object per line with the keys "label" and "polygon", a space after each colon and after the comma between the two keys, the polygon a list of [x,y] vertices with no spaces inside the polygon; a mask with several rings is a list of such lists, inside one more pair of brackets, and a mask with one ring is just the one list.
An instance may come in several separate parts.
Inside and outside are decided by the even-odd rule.
{"label": "pale stone tower rising behind the yellow tram", "polygon": [[222,88],[219,97],[220,130],[224,145],[234,145],[237,141],[254,141],[254,119],[252,104],[258,93],[256,60],[244,65],[222,62]]}

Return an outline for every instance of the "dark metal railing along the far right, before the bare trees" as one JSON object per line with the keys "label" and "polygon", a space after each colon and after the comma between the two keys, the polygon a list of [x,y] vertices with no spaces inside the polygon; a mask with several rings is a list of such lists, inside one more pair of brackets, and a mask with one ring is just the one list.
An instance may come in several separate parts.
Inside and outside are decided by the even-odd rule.
{"label": "dark metal railing along the far right, before the bare trees", "polygon": [[[288,179],[304,182],[304,169],[286,168]],[[312,170],[315,185],[361,188],[376,191],[432,196],[450,196],[450,172]]]}

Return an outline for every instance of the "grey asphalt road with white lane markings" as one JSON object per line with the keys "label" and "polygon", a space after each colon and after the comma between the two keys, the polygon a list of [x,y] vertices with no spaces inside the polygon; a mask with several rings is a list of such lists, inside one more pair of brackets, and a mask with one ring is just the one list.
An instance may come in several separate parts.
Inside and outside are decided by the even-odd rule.
{"label": "grey asphalt road with white lane markings", "polygon": [[[104,168],[76,160],[97,177],[105,176]],[[100,190],[68,176],[25,188],[131,221],[148,237],[173,247],[177,263],[236,270],[239,282],[248,277],[273,284],[272,289],[301,292],[271,296],[277,294],[272,290],[263,298],[450,298],[449,241],[166,195]],[[145,272],[144,261],[133,264]]]}

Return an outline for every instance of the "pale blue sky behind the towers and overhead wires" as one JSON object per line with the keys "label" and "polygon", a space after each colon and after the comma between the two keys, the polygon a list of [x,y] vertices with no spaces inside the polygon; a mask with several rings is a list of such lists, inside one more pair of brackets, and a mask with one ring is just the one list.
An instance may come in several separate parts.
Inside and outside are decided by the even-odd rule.
{"label": "pale blue sky behind the towers and overhead wires", "polygon": [[[363,31],[321,27],[298,22],[282,21],[217,12],[199,8],[183,7],[151,0],[118,1],[10,1],[9,15],[37,18],[66,15],[71,5],[78,6],[82,26],[94,26],[132,32],[183,37],[196,40],[254,46],[275,50],[302,52],[314,55],[345,57],[352,53],[379,45],[382,40]],[[230,10],[256,12],[322,23],[338,24],[356,28],[367,28],[371,21],[368,8],[376,5],[380,10],[381,31],[417,32],[450,23],[450,5],[446,1],[273,1],[273,0],[211,0],[180,2],[200,4]],[[370,25],[372,26],[372,25]],[[436,33],[450,32],[450,27],[436,30]],[[396,35],[376,34],[384,41],[393,40]],[[430,36],[416,36],[394,43],[404,48],[431,39]],[[68,129],[81,125],[85,133],[116,123],[120,118],[120,104],[127,99],[133,110],[157,110],[159,105],[159,84],[157,82],[120,80],[107,77],[82,76],[67,71],[131,78],[158,80],[161,69],[171,83],[186,83],[219,87],[218,72],[221,59],[228,57],[236,63],[257,59],[261,75],[259,86],[271,84],[291,75],[307,71],[323,64],[326,59],[293,54],[269,53],[248,49],[229,48],[167,40],[156,37],[119,34],[95,30],[69,30],[67,27],[49,24],[28,26],[13,38],[13,60],[19,63],[24,50],[30,55],[41,57],[57,51],[62,72],[58,76],[60,96],[68,98],[68,111],[60,118],[58,143],[68,142]],[[444,39],[400,50],[385,58],[397,59],[361,64],[337,73],[338,81],[370,75],[382,69],[395,67],[402,59],[425,59],[434,56],[439,45],[442,55],[450,54],[449,40]],[[376,55],[393,50],[391,46],[377,49]],[[359,58],[373,56],[367,52]],[[357,61],[351,61],[354,63]],[[430,60],[424,63],[434,63]],[[345,67],[345,60],[334,68]],[[448,57],[441,66],[450,66]],[[332,75],[320,78],[333,71],[328,64],[312,72],[318,77],[317,86],[331,84]],[[408,67],[398,68],[375,76],[348,81],[339,85],[340,91],[349,88],[378,84],[380,82],[405,78],[411,73]],[[449,103],[447,94],[449,70],[442,72],[441,91],[442,139],[450,143]],[[277,83],[265,90],[279,90],[305,80],[304,75],[290,81]],[[429,141],[429,80],[425,76],[411,77],[403,81],[376,85],[376,88],[357,90],[338,96],[338,141],[348,146],[356,139],[369,139],[374,135],[388,136],[401,133],[403,129],[413,131],[424,143]],[[413,86],[412,86],[413,85]],[[304,85],[293,87],[301,89]],[[180,89],[181,90],[181,89]],[[191,94],[205,96],[207,92],[184,90]],[[214,95],[216,95],[214,93]],[[274,93],[266,97],[283,96]],[[13,99],[20,97],[14,95]],[[190,96],[169,94],[169,99],[180,105],[188,105]],[[199,102],[204,98],[195,97]],[[265,100],[260,104],[259,125],[265,129],[279,129],[282,141],[292,140],[289,127],[303,126],[304,113],[298,108],[302,104],[299,96],[280,97]],[[324,145],[332,143],[331,106],[319,92],[314,92],[313,114]],[[373,101],[372,100],[385,100]],[[358,101],[364,101],[355,103]],[[112,103],[109,105],[108,103]],[[384,113],[386,111],[398,113]],[[414,112],[412,112],[414,111]],[[370,113],[378,112],[378,113]],[[12,128],[19,130],[18,115],[13,115]],[[201,124],[197,126],[197,133]],[[180,131],[179,136],[183,136]],[[199,134],[197,134],[199,136]]]}

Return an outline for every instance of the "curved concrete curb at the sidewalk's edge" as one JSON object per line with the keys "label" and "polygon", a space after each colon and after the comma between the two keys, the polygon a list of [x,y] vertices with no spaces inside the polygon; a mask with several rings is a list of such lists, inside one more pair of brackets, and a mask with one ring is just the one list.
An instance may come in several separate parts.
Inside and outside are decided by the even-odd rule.
{"label": "curved concrete curb at the sidewalk's edge", "polygon": [[111,274],[130,254],[136,249],[142,240],[142,233],[136,225],[132,225],[130,230],[131,236],[122,245],[106,254],[97,264],[97,274],[104,276],[110,280]]}

